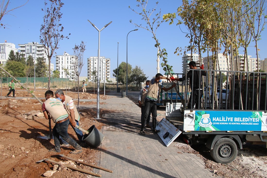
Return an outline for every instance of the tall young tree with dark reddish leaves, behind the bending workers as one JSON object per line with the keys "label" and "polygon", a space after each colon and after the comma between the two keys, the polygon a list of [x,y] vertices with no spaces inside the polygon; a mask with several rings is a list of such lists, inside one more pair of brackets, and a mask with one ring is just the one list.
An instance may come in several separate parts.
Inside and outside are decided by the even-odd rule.
{"label": "tall young tree with dark reddish leaves, behind the bending workers", "polygon": [[[48,5],[49,3],[49,5]],[[40,42],[44,45],[45,53],[48,57],[48,89],[50,90],[50,76],[51,76],[51,58],[56,49],[58,49],[58,42],[67,38],[68,36],[64,36],[62,33],[64,27],[60,23],[60,19],[62,13],[60,12],[61,7],[64,3],[61,0],[45,0],[45,9],[44,11],[44,22],[41,25],[40,29]],[[48,7],[47,7],[48,6]],[[70,35],[70,34],[69,34]],[[51,50],[51,51],[50,51]]]}

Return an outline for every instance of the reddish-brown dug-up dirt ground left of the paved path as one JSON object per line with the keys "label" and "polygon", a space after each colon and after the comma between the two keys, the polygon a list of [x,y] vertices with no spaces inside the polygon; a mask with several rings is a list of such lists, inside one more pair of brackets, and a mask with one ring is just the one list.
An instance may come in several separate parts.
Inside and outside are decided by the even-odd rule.
{"label": "reddish-brown dug-up dirt ground left of the paved path", "polygon": [[[50,158],[51,155],[57,155],[55,152],[48,152],[54,148],[54,140],[49,139],[49,125],[43,114],[36,116],[36,113],[41,112],[41,104],[34,99],[30,99],[26,91],[16,89],[15,96],[6,98],[8,90],[2,90],[2,100],[0,100],[0,177],[44,177],[43,173],[53,170],[52,163],[44,161],[36,164],[40,159]],[[55,91],[54,91],[55,92]],[[44,98],[44,91],[35,91],[37,97]],[[77,98],[77,93],[67,92],[73,98]],[[90,99],[96,98],[93,93],[80,93],[80,98]],[[12,93],[11,93],[12,96]],[[17,97],[27,97],[17,99]],[[100,93],[100,98],[105,99]],[[45,101],[42,99],[42,101]],[[75,103],[77,105],[77,101]],[[96,104],[96,102],[80,102],[82,105]],[[100,104],[104,104],[100,102]],[[101,130],[102,123],[99,123],[96,118],[95,109],[87,109],[81,112],[80,126],[84,129],[89,129],[95,125]],[[100,109],[100,117],[107,110]],[[42,112],[41,112],[42,113]],[[84,117],[86,116],[86,117]],[[54,123],[52,122],[52,128]],[[68,133],[72,138],[77,138],[73,129],[69,127]],[[77,143],[80,143],[76,139]],[[96,160],[99,160],[100,151],[98,148],[90,148],[88,145],[81,145],[84,148],[83,152],[78,155],[70,154],[73,150],[70,147],[61,147],[60,154],[63,154],[74,159],[81,159],[86,163],[97,165]],[[56,161],[67,161],[65,158],[55,158]],[[74,162],[74,161],[72,161]],[[73,163],[72,163],[73,164]],[[77,168],[93,171],[93,168],[83,164],[75,165]],[[52,177],[92,177],[88,174],[83,174],[78,171],[57,171]]]}

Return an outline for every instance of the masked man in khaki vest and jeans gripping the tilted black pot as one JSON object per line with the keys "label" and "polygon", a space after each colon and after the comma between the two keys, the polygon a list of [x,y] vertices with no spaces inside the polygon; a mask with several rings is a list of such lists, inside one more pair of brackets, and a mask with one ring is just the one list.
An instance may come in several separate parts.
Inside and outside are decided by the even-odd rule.
{"label": "masked man in khaki vest and jeans gripping the tilted black pot", "polygon": [[[70,115],[72,121],[75,122],[76,125],[79,125],[80,116],[79,116],[76,106],[74,105],[73,99],[68,95],[64,95],[64,92],[61,89],[58,89],[55,92],[55,96],[56,96],[56,99],[60,100],[64,104],[64,107],[66,111],[68,112],[68,114]],[[72,127],[72,128],[75,131],[78,139],[82,142],[83,132],[77,129],[76,127]],[[65,140],[62,139],[62,142],[63,144],[61,146],[69,147],[69,144]]]}

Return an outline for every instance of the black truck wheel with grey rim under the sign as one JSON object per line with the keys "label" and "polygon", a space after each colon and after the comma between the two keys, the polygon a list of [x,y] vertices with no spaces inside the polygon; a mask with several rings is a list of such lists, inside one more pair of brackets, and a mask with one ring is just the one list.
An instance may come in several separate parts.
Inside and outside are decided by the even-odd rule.
{"label": "black truck wheel with grey rim under the sign", "polygon": [[227,164],[234,161],[237,152],[237,145],[232,139],[220,138],[210,150],[210,155],[217,163]]}

